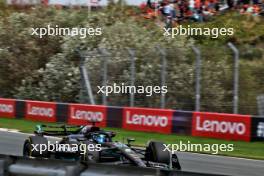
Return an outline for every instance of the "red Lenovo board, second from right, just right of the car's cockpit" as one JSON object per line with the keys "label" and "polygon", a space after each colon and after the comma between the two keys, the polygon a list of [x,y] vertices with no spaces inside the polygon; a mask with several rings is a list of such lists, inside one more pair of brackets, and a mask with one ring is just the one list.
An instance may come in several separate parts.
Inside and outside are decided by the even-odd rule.
{"label": "red Lenovo board, second from right, just right of the car's cockpit", "polygon": [[173,110],[123,109],[123,128],[133,131],[171,133]]}

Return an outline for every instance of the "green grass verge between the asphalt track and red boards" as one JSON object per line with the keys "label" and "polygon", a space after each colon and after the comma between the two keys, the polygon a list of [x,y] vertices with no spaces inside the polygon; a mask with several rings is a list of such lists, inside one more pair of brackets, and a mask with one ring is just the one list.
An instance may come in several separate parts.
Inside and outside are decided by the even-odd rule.
{"label": "green grass verge between the asphalt track and red boards", "polygon": [[[35,129],[35,125],[37,124],[51,124],[51,123],[0,118],[0,128],[18,129],[21,132],[25,132],[25,133],[32,133]],[[135,144],[141,146],[145,145],[149,140],[164,141],[167,144],[179,144],[180,141],[182,141],[182,143],[184,144],[188,144],[188,142],[191,144],[202,144],[202,145],[210,144],[211,147],[213,146],[213,144],[226,144],[226,145],[233,144],[234,151],[219,152],[218,155],[264,160],[264,150],[263,150],[264,142],[248,143],[248,142],[225,141],[219,139],[200,138],[200,137],[192,137],[192,136],[180,136],[174,134],[166,135],[166,134],[158,134],[158,133],[135,132],[135,131],[127,131],[117,128],[106,128],[106,129],[115,131],[117,133],[115,140],[125,141],[125,139],[128,137],[135,138],[136,139]],[[214,148],[213,150],[216,151],[216,148]],[[206,152],[199,152],[199,153],[206,153]]]}

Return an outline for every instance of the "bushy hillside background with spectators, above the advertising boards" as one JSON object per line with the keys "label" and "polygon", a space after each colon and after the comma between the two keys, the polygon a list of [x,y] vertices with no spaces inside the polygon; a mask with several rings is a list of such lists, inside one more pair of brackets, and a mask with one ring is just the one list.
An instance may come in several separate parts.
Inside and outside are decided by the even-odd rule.
{"label": "bushy hillside background with spectators, above the advertising boards", "polygon": [[[206,16],[205,11],[209,10],[205,5],[192,11],[191,2],[186,1],[187,10],[181,10],[184,2],[1,0],[0,97],[91,103],[92,93],[95,104],[110,106],[263,115],[262,2],[235,1],[230,5],[229,1],[216,1],[211,3],[214,5],[211,14]],[[172,10],[178,15],[163,13],[171,4],[176,5]],[[259,11],[251,11],[249,8],[256,4]],[[31,28],[47,25],[100,27],[102,35],[84,39],[79,36],[40,39],[31,35]],[[163,28],[168,25],[234,28],[235,33],[217,39],[210,36],[172,39],[163,36]],[[83,68],[89,80],[83,77]],[[97,94],[98,85],[113,83],[166,85],[168,93],[163,97]]]}

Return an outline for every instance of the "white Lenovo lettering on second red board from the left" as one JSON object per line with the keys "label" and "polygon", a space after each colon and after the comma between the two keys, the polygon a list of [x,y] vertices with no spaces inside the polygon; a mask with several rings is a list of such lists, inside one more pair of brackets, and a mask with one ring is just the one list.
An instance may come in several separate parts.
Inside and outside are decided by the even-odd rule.
{"label": "white Lenovo lettering on second red board from the left", "polygon": [[54,110],[52,108],[28,105],[28,114],[34,116],[53,117]]}

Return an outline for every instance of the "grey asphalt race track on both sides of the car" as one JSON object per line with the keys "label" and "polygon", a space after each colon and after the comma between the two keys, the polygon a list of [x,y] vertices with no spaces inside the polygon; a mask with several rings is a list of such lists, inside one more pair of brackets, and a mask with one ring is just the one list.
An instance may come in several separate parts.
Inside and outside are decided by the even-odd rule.
{"label": "grey asphalt race track on both sides of the car", "polygon": [[[21,156],[27,134],[0,131],[0,154]],[[178,153],[184,171],[234,176],[263,176],[264,161]]]}

